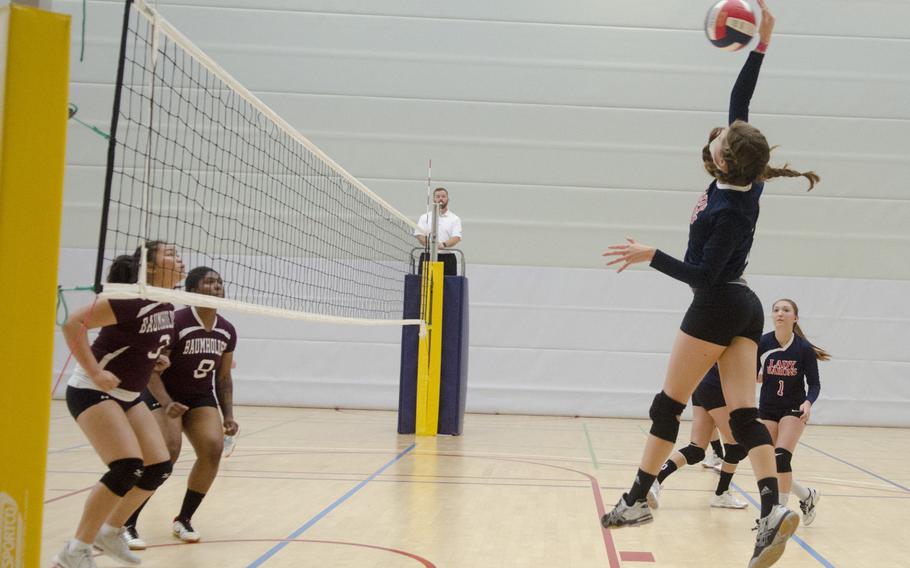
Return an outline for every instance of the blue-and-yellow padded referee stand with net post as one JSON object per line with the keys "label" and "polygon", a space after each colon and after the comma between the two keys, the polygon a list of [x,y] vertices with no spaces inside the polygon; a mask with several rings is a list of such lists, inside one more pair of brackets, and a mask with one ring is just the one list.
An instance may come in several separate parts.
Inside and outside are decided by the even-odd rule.
{"label": "blue-and-yellow padded referee stand with net post", "polygon": [[[398,433],[419,436],[458,436],[464,427],[468,388],[468,279],[464,254],[456,275],[444,275],[436,257],[436,215],[428,242],[430,260],[405,276],[404,317],[423,319],[427,332],[416,326],[401,332],[401,377],[398,390]],[[423,255],[421,255],[423,256]],[[415,270],[416,268],[416,270]]]}

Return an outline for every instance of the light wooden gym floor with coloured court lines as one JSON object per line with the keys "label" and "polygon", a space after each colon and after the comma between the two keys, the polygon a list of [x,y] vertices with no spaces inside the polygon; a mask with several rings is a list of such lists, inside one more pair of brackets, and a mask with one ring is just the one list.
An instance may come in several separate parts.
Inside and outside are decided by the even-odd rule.
{"label": "light wooden gym floor with coloured court lines", "polygon": [[[708,507],[716,474],[693,466],[667,481],[654,523],[601,529],[603,508],[635,473],[645,421],[468,415],[460,437],[415,439],[395,433],[394,412],[241,406],[236,415],[237,450],[193,520],[202,541],[170,534],[193,460],[184,444],[140,520],[143,566],[726,568],[751,555],[747,463],[733,478],[753,502],[746,510]],[[680,443],[687,436],[684,424]],[[810,426],[802,442],[794,472],[820,491],[818,517],[776,566],[910,565],[910,430]],[[103,471],[55,401],[42,566]],[[798,510],[795,497],[790,506]]]}

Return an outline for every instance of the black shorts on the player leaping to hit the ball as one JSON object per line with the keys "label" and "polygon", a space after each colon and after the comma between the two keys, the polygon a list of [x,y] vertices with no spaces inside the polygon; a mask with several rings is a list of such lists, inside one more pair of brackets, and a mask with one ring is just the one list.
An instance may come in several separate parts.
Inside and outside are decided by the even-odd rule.
{"label": "black shorts on the player leaping to hit the ball", "polygon": [[695,290],[680,329],[697,339],[727,346],[734,337],[758,343],[764,325],[765,314],[755,292],[742,284],[723,284]]}

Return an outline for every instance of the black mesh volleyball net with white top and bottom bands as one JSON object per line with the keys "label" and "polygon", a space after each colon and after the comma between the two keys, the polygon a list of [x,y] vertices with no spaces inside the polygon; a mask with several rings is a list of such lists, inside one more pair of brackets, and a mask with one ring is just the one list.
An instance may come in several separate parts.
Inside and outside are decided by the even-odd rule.
{"label": "black mesh volleyball net with white top and bottom bands", "polygon": [[[102,297],[422,324],[402,319],[414,229],[147,0],[127,0],[95,271]],[[226,297],[152,285],[151,241],[220,273]],[[137,248],[138,282],[102,281]]]}

